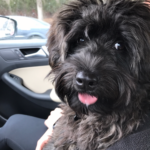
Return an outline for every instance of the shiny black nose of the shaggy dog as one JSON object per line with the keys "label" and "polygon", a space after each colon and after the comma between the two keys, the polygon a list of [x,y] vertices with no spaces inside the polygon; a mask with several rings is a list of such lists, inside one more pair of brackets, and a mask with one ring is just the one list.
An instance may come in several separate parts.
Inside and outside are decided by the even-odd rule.
{"label": "shiny black nose of the shaggy dog", "polygon": [[76,85],[82,90],[91,90],[97,85],[97,78],[84,72],[78,72],[76,75]]}

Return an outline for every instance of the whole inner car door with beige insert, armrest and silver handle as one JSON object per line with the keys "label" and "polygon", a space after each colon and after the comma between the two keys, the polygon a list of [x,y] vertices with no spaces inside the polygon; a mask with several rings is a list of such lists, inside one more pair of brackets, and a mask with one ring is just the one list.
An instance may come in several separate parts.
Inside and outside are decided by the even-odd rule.
{"label": "whole inner car door with beige insert, armrest and silver handle", "polygon": [[14,114],[46,119],[60,103],[45,45],[46,40],[0,40],[0,127]]}

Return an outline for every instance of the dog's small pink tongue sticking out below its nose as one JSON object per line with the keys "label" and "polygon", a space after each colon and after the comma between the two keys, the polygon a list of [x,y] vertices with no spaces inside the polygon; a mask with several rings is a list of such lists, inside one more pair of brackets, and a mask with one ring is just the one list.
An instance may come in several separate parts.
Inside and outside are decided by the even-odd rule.
{"label": "dog's small pink tongue sticking out below its nose", "polygon": [[97,101],[97,98],[95,96],[91,96],[88,94],[78,94],[79,100],[86,105],[94,104]]}

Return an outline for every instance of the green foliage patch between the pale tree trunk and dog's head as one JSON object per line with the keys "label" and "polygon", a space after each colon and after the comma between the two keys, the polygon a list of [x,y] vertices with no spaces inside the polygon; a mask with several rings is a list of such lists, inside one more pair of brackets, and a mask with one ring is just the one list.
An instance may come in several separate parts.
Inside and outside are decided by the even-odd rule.
{"label": "green foliage patch between the pale tree trunk and dog's head", "polygon": [[68,1],[69,0],[43,0],[43,9],[45,12],[53,14]]}

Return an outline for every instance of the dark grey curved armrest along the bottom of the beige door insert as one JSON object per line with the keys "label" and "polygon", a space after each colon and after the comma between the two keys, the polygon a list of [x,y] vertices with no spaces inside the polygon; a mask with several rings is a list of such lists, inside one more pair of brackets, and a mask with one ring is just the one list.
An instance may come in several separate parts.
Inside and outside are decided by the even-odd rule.
{"label": "dark grey curved armrest along the bottom of the beige door insert", "polygon": [[32,101],[33,103],[37,105],[40,105],[42,107],[49,108],[49,109],[53,109],[58,106],[59,103],[56,103],[50,99],[51,90],[48,90],[47,92],[43,94],[34,93],[22,85],[21,78],[19,78],[18,76],[14,76],[14,77],[16,78],[13,78],[12,75],[9,73],[4,73],[2,75],[2,80],[9,87],[15,90],[17,93],[19,93],[20,95],[22,95],[23,97],[27,98],[28,100]]}

